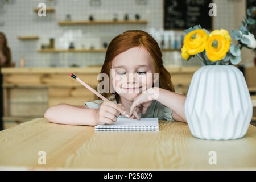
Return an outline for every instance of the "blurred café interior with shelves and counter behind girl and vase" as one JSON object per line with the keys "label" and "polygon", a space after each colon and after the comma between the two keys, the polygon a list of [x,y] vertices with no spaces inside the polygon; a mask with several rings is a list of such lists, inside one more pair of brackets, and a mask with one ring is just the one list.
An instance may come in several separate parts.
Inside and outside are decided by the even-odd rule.
{"label": "blurred caf\u00e9 interior with shelves and counter behind girl and vase", "polygon": [[[212,2],[215,17],[208,15]],[[184,30],[200,24],[231,35],[253,6],[255,0],[0,0],[0,40],[7,40],[10,49],[10,56],[1,58],[0,52],[0,60],[10,60],[1,69],[1,129],[42,118],[52,105],[94,100],[67,74],[73,72],[97,89],[108,44],[127,30],[147,31],[155,38],[176,92],[186,94],[201,61],[181,57]],[[250,32],[255,35],[255,26]],[[242,49],[237,67],[245,74],[254,105],[255,63],[255,50]]]}

